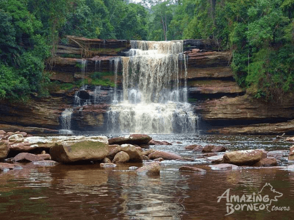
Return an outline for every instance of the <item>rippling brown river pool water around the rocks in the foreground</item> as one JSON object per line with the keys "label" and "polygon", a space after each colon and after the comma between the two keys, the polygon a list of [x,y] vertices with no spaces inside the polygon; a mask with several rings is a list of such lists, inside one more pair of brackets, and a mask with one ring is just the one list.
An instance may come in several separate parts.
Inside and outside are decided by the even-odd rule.
{"label": "rippling brown river pool water around the rocks in the foreground", "polygon": [[[187,144],[224,144],[235,148],[289,149],[290,143],[273,142],[268,136],[151,135],[155,140],[174,142],[154,146],[195,162],[163,161],[160,176],[138,176],[130,166],[102,169],[93,165],[57,165],[41,167],[26,164],[23,170],[0,173],[1,220],[291,220],[294,219],[294,171],[276,168],[209,170],[206,173],[179,172],[182,165],[203,166],[207,161],[191,151]],[[181,142],[181,143],[175,143]],[[289,165],[283,162],[281,165]],[[273,205],[289,211],[235,211],[226,215],[229,195],[263,195]],[[281,196],[281,194],[283,194]],[[277,197],[278,196],[278,197]],[[240,202],[239,204],[244,204]],[[246,203],[246,202],[245,202]],[[250,204],[254,202],[247,202]],[[269,202],[259,202],[268,204]],[[237,205],[238,203],[234,203]],[[260,205],[260,204],[259,204]],[[229,210],[230,211],[230,210]],[[226,215],[226,216],[225,216]]]}

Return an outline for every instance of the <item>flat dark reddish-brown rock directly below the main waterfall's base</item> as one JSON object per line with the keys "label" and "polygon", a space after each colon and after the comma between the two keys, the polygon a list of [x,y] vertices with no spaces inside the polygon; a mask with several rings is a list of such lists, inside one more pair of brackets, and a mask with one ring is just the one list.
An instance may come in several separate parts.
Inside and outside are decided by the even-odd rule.
{"label": "flat dark reddish-brown rock directly below the main waterfall's base", "polygon": [[130,134],[123,137],[114,137],[108,140],[109,144],[148,144],[152,138],[147,134]]}

